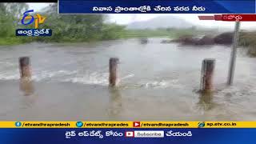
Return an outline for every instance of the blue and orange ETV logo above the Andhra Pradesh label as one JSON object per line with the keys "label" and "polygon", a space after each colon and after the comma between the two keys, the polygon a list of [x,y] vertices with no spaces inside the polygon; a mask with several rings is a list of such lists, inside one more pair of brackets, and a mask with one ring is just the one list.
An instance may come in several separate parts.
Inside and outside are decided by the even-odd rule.
{"label": "blue and orange ETV logo above the Andhra Pradesh label", "polygon": [[40,14],[30,15],[29,13],[34,12],[34,10],[27,10],[25,13],[23,13],[23,17],[21,18],[22,25],[30,25],[34,22],[34,28],[38,29],[38,25],[45,22],[46,17],[43,17]]}

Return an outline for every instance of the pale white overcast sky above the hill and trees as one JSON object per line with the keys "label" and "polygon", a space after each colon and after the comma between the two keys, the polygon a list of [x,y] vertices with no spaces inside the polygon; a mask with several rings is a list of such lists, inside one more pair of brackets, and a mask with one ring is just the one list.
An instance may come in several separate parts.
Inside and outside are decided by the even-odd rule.
{"label": "pale white overcast sky above the hill and trees", "polygon": [[[30,9],[42,10],[49,3],[28,3]],[[212,28],[233,28],[234,22],[221,22],[221,21],[199,21],[198,15],[213,15],[213,14],[108,14],[110,22],[116,22],[118,24],[128,24],[130,22],[145,21],[158,16],[176,16],[178,18],[185,19],[187,22],[192,23],[195,26],[206,26]],[[256,22],[242,22],[242,29],[256,29]]]}

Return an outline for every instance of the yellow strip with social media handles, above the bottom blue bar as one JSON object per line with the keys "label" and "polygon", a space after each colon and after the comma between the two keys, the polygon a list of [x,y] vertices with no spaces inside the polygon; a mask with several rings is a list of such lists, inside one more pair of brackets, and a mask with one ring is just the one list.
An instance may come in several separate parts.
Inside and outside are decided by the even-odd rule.
{"label": "yellow strip with social media handles, above the bottom blue bar", "polygon": [[0,122],[0,128],[256,128],[256,122]]}

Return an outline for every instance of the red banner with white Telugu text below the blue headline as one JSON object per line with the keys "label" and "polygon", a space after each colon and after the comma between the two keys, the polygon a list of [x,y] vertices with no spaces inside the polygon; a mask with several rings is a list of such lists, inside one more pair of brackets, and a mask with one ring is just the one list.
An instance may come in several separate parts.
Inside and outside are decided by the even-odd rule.
{"label": "red banner with white Telugu text below the blue headline", "polygon": [[256,22],[256,14],[216,14],[213,16],[198,16],[200,20],[215,20],[215,21],[245,21]]}

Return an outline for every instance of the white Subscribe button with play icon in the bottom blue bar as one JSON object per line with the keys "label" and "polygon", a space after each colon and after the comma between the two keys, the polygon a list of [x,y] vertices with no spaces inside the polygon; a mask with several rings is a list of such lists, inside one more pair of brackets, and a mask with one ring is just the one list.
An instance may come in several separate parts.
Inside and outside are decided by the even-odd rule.
{"label": "white Subscribe button with play icon in the bottom blue bar", "polygon": [[134,138],[164,138],[163,130],[135,130],[130,131],[130,137]]}

